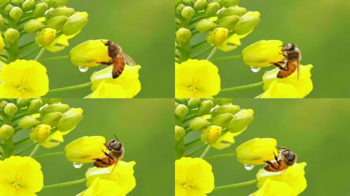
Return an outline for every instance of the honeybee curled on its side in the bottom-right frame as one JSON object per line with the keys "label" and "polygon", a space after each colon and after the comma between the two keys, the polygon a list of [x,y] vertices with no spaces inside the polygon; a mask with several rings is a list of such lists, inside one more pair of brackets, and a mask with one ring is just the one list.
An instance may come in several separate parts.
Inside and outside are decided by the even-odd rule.
{"label": "honeybee curled on its side in the bottom-right frame", "polygon": [[287,169],[289,166],[292,166],[296,162],[296,154],[289,149],[278,147],[282,149],[278,154],[278,157],[275,155],[275,162],[264,161],[264,169],[268,171],[282,171]]}

